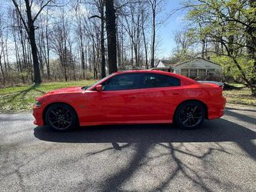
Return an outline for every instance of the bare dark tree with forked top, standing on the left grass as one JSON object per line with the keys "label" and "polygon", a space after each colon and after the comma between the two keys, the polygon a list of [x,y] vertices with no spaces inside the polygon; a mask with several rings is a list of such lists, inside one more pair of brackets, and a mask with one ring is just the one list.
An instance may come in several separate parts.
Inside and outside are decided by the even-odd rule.
{"label": "bare dark tree with forked top, standing on the left grass", "polygon": [[38,48],[35,42],[35,21],[38,18],[38,15],[42,12],[43,8],[45,8],[52,0],[48,1],[41,1],[39,11],[35,14],[35,17],[32,18],[32,4],[33,2],[29,2],[29,0],[25,1],[25,12],[27,15],[27,22],[25,22],[25,17],[22,15],[22,9],[21,6],[18,5],[18,3],[15,0],[12,0],[13,4],[15,5],[15,8],[18,12],[18,15],[20,16],[22,20],[22,24],[25,27],[25,30],[28,33],[28,38],[30,42],[30,46],[32,49],[32,58],[33,58],[33,67],[34,67],[34,82],[35,84],[40,84],[42,82],[40,70],[39,70],[39,61],[38,61]]}

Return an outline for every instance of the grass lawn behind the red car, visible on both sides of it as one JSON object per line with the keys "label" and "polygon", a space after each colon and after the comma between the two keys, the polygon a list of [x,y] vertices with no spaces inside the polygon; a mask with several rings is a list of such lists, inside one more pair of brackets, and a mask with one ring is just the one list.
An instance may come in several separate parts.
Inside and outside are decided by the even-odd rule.
{"label": "grass lawn behind the red car, visible on both sides of it", "polygon": [[[52,82],[38,86],[0,88],[0,112],[29,111],[32,110],[35,98],[48,91],[71,86],[86,86],[94,82],[95,81]],[[251,91],[248,88],[224,91],[224,97],[227,98],[228,103],[256,105],[256,98],[252,97],[250,94]]]}

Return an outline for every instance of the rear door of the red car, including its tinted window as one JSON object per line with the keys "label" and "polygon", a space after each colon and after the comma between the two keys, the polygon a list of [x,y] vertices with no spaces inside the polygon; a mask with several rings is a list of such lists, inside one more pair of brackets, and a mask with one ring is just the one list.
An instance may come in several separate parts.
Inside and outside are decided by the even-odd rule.
{"label": "rear door of the red car, including its tinted window", "polygon": [[181,101],[181,81],[165,74],[145,73],[141,79],[141,120],[171,122]]}

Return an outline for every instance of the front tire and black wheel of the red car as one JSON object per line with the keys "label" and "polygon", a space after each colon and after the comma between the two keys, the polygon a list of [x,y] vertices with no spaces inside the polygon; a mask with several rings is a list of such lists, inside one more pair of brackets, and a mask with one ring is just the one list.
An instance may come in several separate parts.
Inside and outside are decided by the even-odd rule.
{"label": "front tire and black wheel of the red car", "polygon": [[68,104],[51,104],[45,112],[45,122],[55,131],[69,131],[78,126],[75,110]]}

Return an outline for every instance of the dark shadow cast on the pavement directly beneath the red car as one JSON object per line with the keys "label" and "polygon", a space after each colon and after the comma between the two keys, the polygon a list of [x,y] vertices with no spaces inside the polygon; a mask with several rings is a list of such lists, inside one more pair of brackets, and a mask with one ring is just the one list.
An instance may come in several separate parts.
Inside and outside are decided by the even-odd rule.
{"label": "dark shadow cast on the pavement directly beneath the red car", "polygon": [[256,146],[251,140],[256,133],[224,119],[205,121],[196,130],[182,130],[175,124],[134,124],[79,127],[74,131],[56,132],[49,127],[35,127],[35,137],[42,141],[62,143],[172,143],[233,141],[256,159]]}

